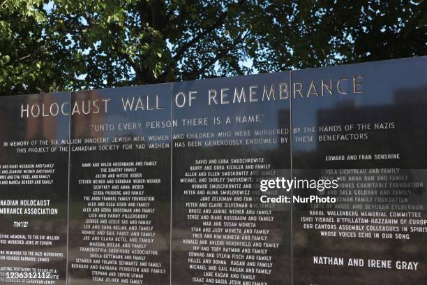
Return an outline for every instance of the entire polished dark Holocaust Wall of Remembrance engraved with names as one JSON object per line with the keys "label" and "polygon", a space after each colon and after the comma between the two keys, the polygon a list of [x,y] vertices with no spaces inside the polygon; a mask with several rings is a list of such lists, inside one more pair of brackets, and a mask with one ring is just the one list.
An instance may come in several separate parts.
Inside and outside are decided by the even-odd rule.
{"label": "entire polished dark Holocaust Wall of Remembrance engraved with names", "polygon": [[426,66],[1,97],[0,284],[424,284]]}

